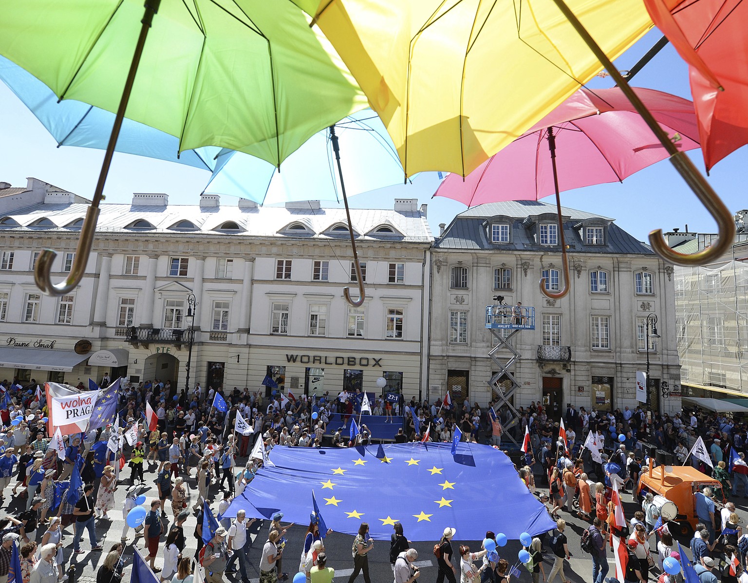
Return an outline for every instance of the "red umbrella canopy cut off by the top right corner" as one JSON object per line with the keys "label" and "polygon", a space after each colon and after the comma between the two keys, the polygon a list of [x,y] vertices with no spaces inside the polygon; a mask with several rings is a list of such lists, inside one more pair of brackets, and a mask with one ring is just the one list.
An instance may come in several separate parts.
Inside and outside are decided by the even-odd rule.
{"label": "red umbrella canopy cut off by the top right corner", "polygon": [[748,2],[645,0],[654,23],[689,64],[709,169],[748,144]]}

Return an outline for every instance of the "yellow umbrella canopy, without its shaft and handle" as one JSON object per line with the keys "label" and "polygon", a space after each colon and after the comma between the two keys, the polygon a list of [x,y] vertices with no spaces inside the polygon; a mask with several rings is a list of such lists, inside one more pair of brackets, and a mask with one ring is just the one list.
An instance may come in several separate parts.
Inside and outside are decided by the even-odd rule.
{"label": "yellow umbrella canopy, without its shaft and handle", "polygon": [[[295,0],[387,126],[408,175],[465,176],[601,69],[553,0]],[[569,0],[616,58],[651,26],[631,0]]]}

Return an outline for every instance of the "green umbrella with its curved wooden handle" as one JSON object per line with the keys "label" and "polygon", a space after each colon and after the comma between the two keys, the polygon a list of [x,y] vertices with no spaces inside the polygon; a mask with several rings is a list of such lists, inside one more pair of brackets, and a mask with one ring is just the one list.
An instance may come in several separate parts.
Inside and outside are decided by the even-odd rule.
{"label": "green umbrella with its curved wooden handle", "polygon": [[[159,5],[160,4],[160,5]],[[220,146],[281,165],[319,129],[367,106],[310,18],[288,0],[0,0],[0,55],[60,99],[117,112],[67,280],[82,278],[122,117],[177,136],[180,150]]]}

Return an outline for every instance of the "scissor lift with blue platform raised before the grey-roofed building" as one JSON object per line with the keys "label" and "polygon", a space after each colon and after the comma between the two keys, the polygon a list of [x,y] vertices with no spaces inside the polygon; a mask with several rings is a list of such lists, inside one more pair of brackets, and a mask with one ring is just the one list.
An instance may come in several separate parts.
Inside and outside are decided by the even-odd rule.
{"label": "scissor lift with blue platform raised before the grey-roofed building", "polygon": [[[515,419],[519,421],[520,415],[509,401],[519,387],[519,383],[509,368],[515,364],[520,356],[509,341],[522,330],[535,329],[535,308],[525,308],[524,306],[512,308],[512,306],[503,304],[488,305],[485,308],[485,327],[491,330],[491,334],[496,338],[496,346],[488,352],[488,356],[494,361],[498,369],[497,373],[488,380],[488,385],[494,394],[503,401],[504,405],[514,413]],[[503,348],[512,352],[512,357],[502,362],[499,359],[498,352]],[[506,379],[509,380],[509,387],[506,387],[503,382],[499,382]],[[504,433],[504,436],[508,437],[515,445],[519,445],[508,432]]]}

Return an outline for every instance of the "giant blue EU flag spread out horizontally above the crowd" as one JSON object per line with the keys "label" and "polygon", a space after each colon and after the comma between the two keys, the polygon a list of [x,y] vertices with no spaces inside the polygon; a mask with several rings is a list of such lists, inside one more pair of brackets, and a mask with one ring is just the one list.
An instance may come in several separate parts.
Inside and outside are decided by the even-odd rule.
{"label": "giant blue EU flag spread out horizontally above the crowd", "polygon": [[[270,519],[278,511],[297,524],[309,520],[312,492],[333,531],[355,535],[368,522],[371,537],[390,540],[402,523],[409,540],[439,540],[447,526],[459,540],[485,531],[518,540],[555,522],[501,451],[488,445],[404,443],[356,448],[275,446],[273,467],[260,468],[224,517],[245,510]],[[283,484],[279,488],[278,484]]]}

